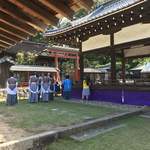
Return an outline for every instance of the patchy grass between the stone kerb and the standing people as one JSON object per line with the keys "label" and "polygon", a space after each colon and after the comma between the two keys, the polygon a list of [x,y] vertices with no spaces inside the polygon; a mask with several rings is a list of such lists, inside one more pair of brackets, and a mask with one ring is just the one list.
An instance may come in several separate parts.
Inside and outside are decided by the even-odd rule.
{"label": "patchy grass between the stone kerb and the standing people", "polygon": [[86,117],[98,118],[118,112],[100,106],[66,103],[56,100],[50,103],[29,104],[21,101],[16,106],[0,103],[3,121],[15,128],[41,132],[55,127],[64,127],[85,121]]}

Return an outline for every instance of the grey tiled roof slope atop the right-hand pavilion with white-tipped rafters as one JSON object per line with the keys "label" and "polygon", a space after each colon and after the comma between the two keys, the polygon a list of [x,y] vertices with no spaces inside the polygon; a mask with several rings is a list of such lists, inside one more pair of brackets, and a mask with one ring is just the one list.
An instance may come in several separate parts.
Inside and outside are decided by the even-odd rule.
{"label": "grey tiled roof slope atop the right-hand pavilion with white-tipped rafters", "polygon": [[139,1],[141,1],[141,0],[112,0],[112,1],[109,1],[107,3],[100,5],[96,10],[94,10],[93,12],[88,14],[87,16],[80,18],[78,20],[72,21],[71,22],[72,25],[69,27],[59,28],[59,29],[55,29],[55,30],[47,30],[45,32],[45,36],[49,36],[51,34],[63,32],[67,29],[76,28],[76,27],[80,26],[81,24],[84,25],[85,23],[88,23],[89,21],[94,21],[97,18],[100,18],[100,17],[105,16],[107,14],[111,14],[115,11],[129,7],[129,6],[135,4]]}

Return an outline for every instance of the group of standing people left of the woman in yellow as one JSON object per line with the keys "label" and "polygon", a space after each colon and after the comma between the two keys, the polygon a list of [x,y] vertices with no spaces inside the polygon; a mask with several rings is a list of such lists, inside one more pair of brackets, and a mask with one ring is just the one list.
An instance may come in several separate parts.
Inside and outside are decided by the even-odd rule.
{"label": "group of standing people left of the woman in yellow", "polygon": [[[11,73],[10,78],[7,80],[7,105],[15,105],[17,100],[17,79]],[[69,79],[69,75],[62,81],[62,96],[64,99],[71,98],[72,80]],[[29,103],[49,102],[53,100],[54,94],[60,92],[60,85],[58,82],[54,82],[53,77],[50,74],[43,74],[37,76],[32,74],[28,83]]]}

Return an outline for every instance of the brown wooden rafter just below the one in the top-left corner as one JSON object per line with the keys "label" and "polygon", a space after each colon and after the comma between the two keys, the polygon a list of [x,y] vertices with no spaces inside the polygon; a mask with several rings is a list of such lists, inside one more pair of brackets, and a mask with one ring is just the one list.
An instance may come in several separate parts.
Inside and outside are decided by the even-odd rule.
{"label": "brown wooden rafter just below the one in the top-left corner", "polygon": [[15,29],[18,29],[31,36],[34,36],[36,34],[36,30],[34,28],[29,26],[28,24],[22,23],[21,21],[7,15],[6,13],[0,12],[0,18],[1,18],[1,21],[9,24]]}

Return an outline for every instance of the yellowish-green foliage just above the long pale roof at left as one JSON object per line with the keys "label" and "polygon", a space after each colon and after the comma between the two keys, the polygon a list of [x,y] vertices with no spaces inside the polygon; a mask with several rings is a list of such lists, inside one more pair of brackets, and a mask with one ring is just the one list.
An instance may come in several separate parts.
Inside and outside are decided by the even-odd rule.
{"label": "yellowish-green foliage just above the long pale roof at left", "polygon": [[35,60],[37,58],[37,54],[31,53],[31,52],[18,52],[16,54],[16,63],[18,65],[33,65],[35,63]]}

